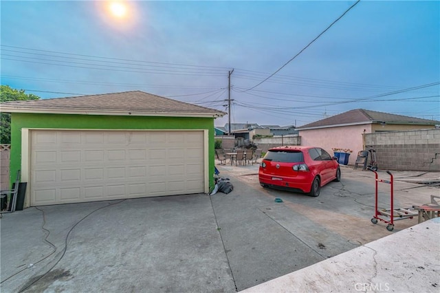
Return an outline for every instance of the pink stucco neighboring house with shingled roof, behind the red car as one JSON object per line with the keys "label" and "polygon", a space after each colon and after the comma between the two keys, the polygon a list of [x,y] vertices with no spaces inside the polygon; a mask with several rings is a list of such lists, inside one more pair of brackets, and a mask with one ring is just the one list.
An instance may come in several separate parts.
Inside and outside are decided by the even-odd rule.
{"label": "pink stucco neighboring house with shingled roof, behind the red car", "polygon": [[365,109],[354,109],[336,116],[298,127],[301,145],[332,149],[351,149],[349,164],[354,164],[358,151],[364,149],[364,133],[434,129],[439,121],[395,115]]}

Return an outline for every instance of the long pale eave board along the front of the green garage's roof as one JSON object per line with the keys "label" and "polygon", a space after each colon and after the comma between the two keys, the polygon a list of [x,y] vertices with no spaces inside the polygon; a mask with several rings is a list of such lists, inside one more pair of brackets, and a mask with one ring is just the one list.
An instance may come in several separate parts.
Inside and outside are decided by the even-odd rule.
{"label": "long pale eave board along the front of the green garage's roof", "polygon": [[1,107],[2,113],[38,113],[38,114],[74,114],[74,115],[101,115],[101,116],[155,116],[155,117],[195,117],[219,118],[225,116],[223,112],[197,113],[197,112],[155,112],[155,111],[120,111],[98,109],[23,109],[14,107]]}

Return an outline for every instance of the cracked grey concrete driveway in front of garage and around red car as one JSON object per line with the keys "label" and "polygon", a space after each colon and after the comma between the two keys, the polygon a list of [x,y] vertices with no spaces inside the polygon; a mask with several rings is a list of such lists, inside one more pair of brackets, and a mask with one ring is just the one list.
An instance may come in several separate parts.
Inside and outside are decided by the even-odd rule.
{"label": "cracked grey concrete driveway in front of garage and around red car", "polygon": [[[3,215],[1,292],[236,292],[417,224],[417,217],[397,221],[393,232],[371,224],[369,171],[342,168],[341,182],[308,197],[261,188],[257,165],[217,168],[232,193]],[[439,188],[419,182],[439,179],[396,173],[395,207],[429,202]],[[388,208],[390,186],[382,185],[380,207]]]}

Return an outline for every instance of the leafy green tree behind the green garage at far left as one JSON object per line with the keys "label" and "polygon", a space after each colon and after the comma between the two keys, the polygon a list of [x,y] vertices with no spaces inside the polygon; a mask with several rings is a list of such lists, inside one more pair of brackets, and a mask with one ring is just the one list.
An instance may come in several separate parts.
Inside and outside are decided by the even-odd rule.
{"label": "leafy green tree behind the green garage at far left", "polygon": [[[24,89],[12,89],[9,85],[0,86],[0,102],[10,102],[13,100],[39,100],[40,97],[34,94],[25,94]],[[1,113],[0,124],[0,143],[11,143],[11,115]]]}

